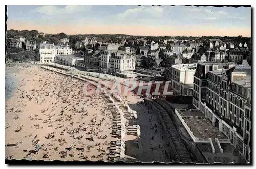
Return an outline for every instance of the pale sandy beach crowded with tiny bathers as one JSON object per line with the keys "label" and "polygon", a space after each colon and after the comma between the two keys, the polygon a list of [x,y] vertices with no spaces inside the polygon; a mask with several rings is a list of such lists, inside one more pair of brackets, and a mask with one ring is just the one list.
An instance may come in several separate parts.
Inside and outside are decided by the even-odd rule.
{"label": "pale sandy beach crowded with tiny bathers", "polygon": [[18,69],[18,89],[6,100],[6,158],[106,161],[115,138],[101,95],[86,96],[84,82],[38,66]]}

